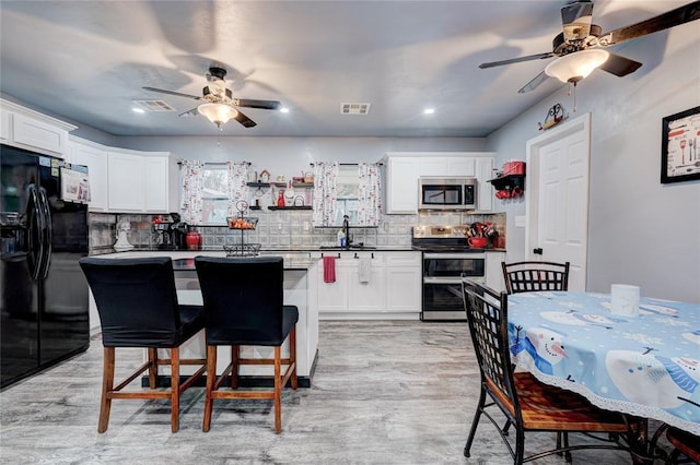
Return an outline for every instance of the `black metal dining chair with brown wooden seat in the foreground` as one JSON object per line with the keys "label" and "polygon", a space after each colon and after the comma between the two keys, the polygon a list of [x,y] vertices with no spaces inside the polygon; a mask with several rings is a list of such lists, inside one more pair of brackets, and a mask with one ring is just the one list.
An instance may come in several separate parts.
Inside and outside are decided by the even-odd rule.
{"label": "black metal dining chair with brown wooden seat in the foreground", "polygon": [[[464,455],[470,456],[471,444],[485,416],[498,430],[515,464],[545,455],[580,449],[617,449],[630,452],[634,444],[634,422],[622,414],[603,410],[585,397],[538,381],[528,372],[514,372],[508,336],[508,295],[495,293],[469,278],[463,278],[464,306],[471,343],[481,375],[481,392],[471,422]],[[499,425],[492,407],[505,416]],[[508,430],[515,429],[515,446]],[[530,431],[583,432],[599,439],[594,443],[563,445],[525,457],[525,433]],[[592,433],[606,433],[606,436]],[[641,456],[640,456],[641,457]]]}

